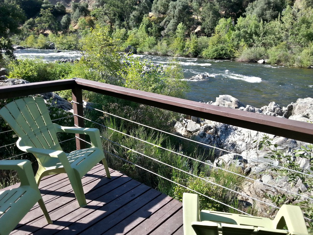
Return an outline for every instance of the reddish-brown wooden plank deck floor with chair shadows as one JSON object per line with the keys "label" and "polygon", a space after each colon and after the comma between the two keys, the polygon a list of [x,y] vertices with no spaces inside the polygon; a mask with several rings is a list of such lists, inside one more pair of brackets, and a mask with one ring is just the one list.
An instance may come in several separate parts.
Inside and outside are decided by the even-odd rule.
{"label": "reddish-brown wooden plank deck floor with chair shadows", "polygon": [[80,208],[67,175],[44,178],[40,191],[53,224],[36,204],[11,234],[144,235],[183,234],[182,203],[111,170],[96,165],[82,179],[87,206]]}

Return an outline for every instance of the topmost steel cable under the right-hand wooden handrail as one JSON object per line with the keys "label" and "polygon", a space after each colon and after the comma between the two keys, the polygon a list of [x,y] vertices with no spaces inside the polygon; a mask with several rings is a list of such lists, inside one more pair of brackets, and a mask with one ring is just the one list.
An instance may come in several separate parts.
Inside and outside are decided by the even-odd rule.
{"label": "topmost steel cable under the right-hand wooden handrail", "polygon": [[[254,160],[254,161],[257,161],[257,162],[262,162],[262,163],[265,163],[265,164],[267,164],[267,165],[271,165],[271,166],[274,166],[274,167],[278,167],[278,168],[281,168],[281,169],[284,169],[284,170],[296,172],[296,173],[299,173],[299,174],[301,174],[301,175],[306,175],[306,176],[309,176],[309,177],[313,177],[313,175],[310,175],[310,174],[307,174],[307,173],[304,173],[304,172],[292,170],[292,169],[289,169],[289,168],[286,168],[286,167],[283,167],[283,166],[279,166],[279,165],[274,165],[274,164],[272,164],[272,163],[265,162],[265,161],[262,161],[262,160],[259,160],[259,159],[250,158],[250,157],[248,157],[248,156],[244,156],[244,155],[241,155],[241,154],[238,154],[238,153],[233,153],[233,152],[230,152],[230,151],[228,151],[228,150],[224,150],[224,149],[218,148],[218,147],[213,146],[213,145],[204,144],[204,143],[201,143],[201,142],[192,140],[192,139],[185,138],[185,137],[183,137],[183,136],[175,135],[175,134],[173,134],[173,133],[169,133],[169,132],[166,132],[166,131],[163,131],[163,130],[160,130],[160,129],[157,129],[157,128],[154,128],[154,127],[150,127],[150,126],[147,126],[147,125],[144,125],[144,124],[141,124],[141,123],[137,123],[137,122],[132,121],[132,120],[129,120],[129,119],[127,119],[127,118],[122,118],[122,117],[120,117],[120,116],[117,116],[117,115],[114,115],[114,114],[111,114],[111,113],[108,113],[108,112],[105,112],[105,111],[103,111],[103,110],[96,109],[96,108],[93,108],[93,107],[88,107],[88,106],[86,106],[86,105],[84,105],[84,104],[81,104],[81,103],[78,103],[78,102],[74,102],[74,103],[83,105],[83,106],[85,106],[86,108],[90,108],[90,109],[93,109],[93,110],[96,110],[96,111],[99,111],[99,112],[103,112],[103,113],[105,113],[105,114],[108,114],[108,115],[113,116],[113,117],[116,117],[116,118],[121,118],[121,119],[126,120],[126,121],[129,121],[129,122],[131,122],[131,123],[135,123],[135,124],[141,125],[141,126],[143,126],[143,127],[147,127],[147,128],[150,128],[150,129],[153,129],[153,130],[156,130],[156,131],[165,133],[165,134],[169,134],[169,135],[172,135],[172,136],[175,136],[175,137],[178,137],[178,138],[187,140],[187,141],[191,141],[191,142],[196,143],[196,144],[201,144],[201,145],[204,145],[204,146],[213,148],[213,149],[221,150],[221,151],[226,152],[226,153],[230,153],[230,154],[237,155],[237,156],[242,157],[242,158],[245,158],[245,159],[251,159],[251,160]],[[214,165],[211,165],[211,166],[215,167]]]}

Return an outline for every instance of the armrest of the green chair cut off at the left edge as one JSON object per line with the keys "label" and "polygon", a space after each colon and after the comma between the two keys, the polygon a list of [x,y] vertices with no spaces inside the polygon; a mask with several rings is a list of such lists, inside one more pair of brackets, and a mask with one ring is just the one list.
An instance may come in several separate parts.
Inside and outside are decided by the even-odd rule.
{"label": "armrest of the green chair cut off at the left edge", "polygon": [[0,170],[15,170],[21,181],[21,186],[31,186],[38,190],[32,164],[29,160],[0,160]]}

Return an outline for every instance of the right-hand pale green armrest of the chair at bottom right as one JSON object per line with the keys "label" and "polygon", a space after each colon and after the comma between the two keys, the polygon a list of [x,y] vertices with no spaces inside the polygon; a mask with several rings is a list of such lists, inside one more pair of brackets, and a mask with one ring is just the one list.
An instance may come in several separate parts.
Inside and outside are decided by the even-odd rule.
{"label": "right-hand pale green armrest of the chair at bottom right", "polygon": [[291,234],[309,234],[300,206],[282,205],[273,224],[277,229],[283,229],[286,225]]}

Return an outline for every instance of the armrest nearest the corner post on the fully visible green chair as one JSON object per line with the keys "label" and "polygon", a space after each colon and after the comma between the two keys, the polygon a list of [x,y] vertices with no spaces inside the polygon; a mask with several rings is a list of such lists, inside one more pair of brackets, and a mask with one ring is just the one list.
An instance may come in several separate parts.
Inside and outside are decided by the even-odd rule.
{"label": "armrest nearest the corner post on the fully visible green chair", "polygon": [[56,132],[75,133],[89,135],[91,147],[97,147],[102,149],[102,143],[100,139],[100,131],[97,128],[80,128],[80,127],[62,127],[54,123]]}

